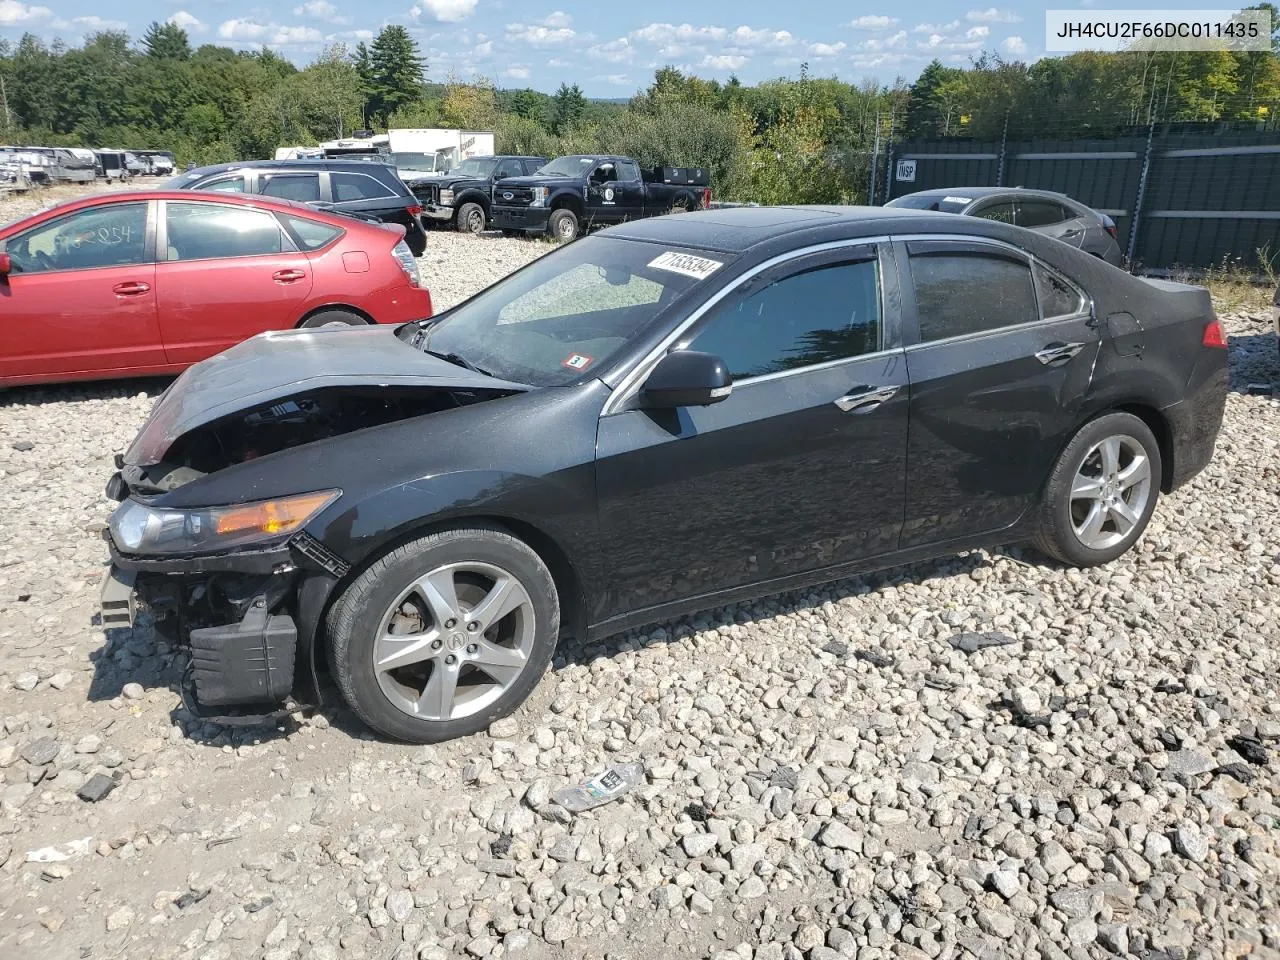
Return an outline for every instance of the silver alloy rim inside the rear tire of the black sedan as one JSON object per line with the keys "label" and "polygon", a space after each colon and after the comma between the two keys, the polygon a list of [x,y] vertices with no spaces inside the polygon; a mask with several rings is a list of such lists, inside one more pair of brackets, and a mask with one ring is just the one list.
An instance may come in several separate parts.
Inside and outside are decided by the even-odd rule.
{"label": "silver alloy rim inside the rear tire of the black sedan", "polygon": [[1107,436],[1089,448],[1071,480],[1071,527],[1089,549],[1123,543],[1151,498],[1151,461],[1133,436]]}

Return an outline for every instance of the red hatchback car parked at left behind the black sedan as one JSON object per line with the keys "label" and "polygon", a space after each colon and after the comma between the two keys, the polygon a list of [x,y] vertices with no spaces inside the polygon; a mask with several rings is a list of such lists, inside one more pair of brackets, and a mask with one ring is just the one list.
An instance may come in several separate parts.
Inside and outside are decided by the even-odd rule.
{"label": "red hatchback car parked at left behind the black sedan", "polygon": [[431,316],[403,228],[138,191],[0,229],[0,385],[177,374],[264,330]]}

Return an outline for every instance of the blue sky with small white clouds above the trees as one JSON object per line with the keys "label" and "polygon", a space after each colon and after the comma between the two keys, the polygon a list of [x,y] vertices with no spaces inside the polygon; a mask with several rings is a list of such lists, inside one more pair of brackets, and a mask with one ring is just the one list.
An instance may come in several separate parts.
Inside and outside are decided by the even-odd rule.
{"label": "blue sky with small white clouds above the trees", "polygon": [[[1097,0],[1059,0],[1056,8]],[[1128,6],[1128,4],[1124,4]],[[431,79],[488,77],[552,91],[577,83],[590,96],[628,96],[673,64],[701,77],[736,73],[754,83],[810,72],[847,82],[913,79],[931,59],[966,64],[982,50],[1043,54],[1046,5],[988,6],[919,0],[778,4],[776,0],[0,0],[0,37],[29,31],[76,44],[96,29],[140,36],[154,19],[183,26],[193,44],[271,46],[306,64],[326,42],[355,45],[387,23],[417,38]]]}

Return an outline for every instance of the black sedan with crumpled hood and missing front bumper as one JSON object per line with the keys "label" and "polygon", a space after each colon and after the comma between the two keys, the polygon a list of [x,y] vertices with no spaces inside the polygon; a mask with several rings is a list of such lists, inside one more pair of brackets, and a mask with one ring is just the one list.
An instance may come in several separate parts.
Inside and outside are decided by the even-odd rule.
{"label": "black sedan with crumpled hood and missing front bumper", "polygon": [[204,716],[315,703],[326,662],[370,726],[444,740],[562,636],[983,544],[1115,559],[1212,456],[1224,347],[1204,289],[1000,223],[632,223],[183,374],[108,488],[104,623],[147,604]]}

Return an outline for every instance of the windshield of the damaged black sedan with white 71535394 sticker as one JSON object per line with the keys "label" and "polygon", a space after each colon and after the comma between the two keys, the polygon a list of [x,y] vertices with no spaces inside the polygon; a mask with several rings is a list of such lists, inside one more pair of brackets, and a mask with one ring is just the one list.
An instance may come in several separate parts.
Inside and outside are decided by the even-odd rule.
{"label": "windshield of the damaged black sedan with white 71535394 sticker", "polygon": [[563,387],[603,369],[730,257],[660,243],[586,237],[421,328],[406,342],[481,372]]}

